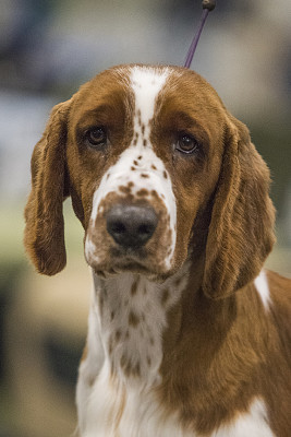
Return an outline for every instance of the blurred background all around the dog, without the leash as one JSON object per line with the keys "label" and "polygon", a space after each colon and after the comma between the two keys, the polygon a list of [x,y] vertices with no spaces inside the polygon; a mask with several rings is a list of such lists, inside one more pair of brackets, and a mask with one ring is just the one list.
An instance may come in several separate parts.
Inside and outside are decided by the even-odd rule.
{"label": "blurred background all around the dog, without the leash", "polygon": [[[291,273],[291,3],[223,0],[193,69],[244,121],[274,179],[278,244]],[[90,291],[82,229],[65,202],[68,267],[37,275],[24,256],[29,160],[51,107],[118,63],[183,64],[201,0],[0,2],[0,437],[70,436]],[[259,217],[258,217],[259,220]]]}

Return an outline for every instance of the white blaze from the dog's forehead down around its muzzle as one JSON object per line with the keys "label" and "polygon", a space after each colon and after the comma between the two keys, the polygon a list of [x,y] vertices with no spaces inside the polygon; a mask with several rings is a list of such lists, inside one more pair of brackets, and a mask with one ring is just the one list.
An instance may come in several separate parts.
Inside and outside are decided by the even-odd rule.
{"label": "white blaze from the dog's forehead down around its muzzle", "polygon": [[[167,268],[170,268],[175,247],[177,208],[170,176],[150,143],[150,120],[155,116],[157,97],[169,74],[169,68],[157,70],[150,67],[133,67],[131,69],[130,87],[134,94],[132,142],[121,153],[118,162],[104,175],[94,194],[92,210],[92,223],[95,226],[100,202],[108,193],[119,193],[119,187],[128,186],[129,182],[132,182],[133,194],[141,189],[146,189],[148,192],[155,190],[165,203],[170,218],[171,250],[165,259]],[[86,251],[95,251],[88,238]]]}

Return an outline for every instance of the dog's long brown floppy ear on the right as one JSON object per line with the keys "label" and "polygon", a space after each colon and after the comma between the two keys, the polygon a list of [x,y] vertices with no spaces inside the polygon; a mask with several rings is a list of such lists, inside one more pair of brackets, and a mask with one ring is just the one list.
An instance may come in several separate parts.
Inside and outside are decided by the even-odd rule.
{"label": "dog's long brown floppy ear on the right", "polygon": [[211,298],[256,277],[275,243],[269,170],[246,127],[230,120],[206,245],[203,290]]}

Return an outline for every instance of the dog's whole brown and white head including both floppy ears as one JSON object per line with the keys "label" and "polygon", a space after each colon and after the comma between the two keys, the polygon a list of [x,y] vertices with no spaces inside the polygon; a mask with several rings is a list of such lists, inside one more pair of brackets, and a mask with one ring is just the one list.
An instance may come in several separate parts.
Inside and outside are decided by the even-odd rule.
{"label": "dog's whole brown and white head including both floppy ears", "polygon": [[250,282],[271,249],[268,189],[247,129],[198,74],[117,67],[53,108],[32,158],[25,246],[39,272],[63,269],[71,196],[96,273],[165,279],[195,246],[205,293],[221,297]]}

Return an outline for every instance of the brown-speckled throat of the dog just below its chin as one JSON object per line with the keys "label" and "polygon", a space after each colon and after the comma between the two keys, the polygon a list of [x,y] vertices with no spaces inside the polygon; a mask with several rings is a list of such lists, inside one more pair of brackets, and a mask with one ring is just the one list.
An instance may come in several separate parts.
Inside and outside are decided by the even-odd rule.
{"label": "brown-speckled throat of the dog just below its chin", "polygon": [[158,383],[168,314],[179,305],[187,280],[187,263],[162,284],[135,273],[94,274],[96,317],[112,376]]}

